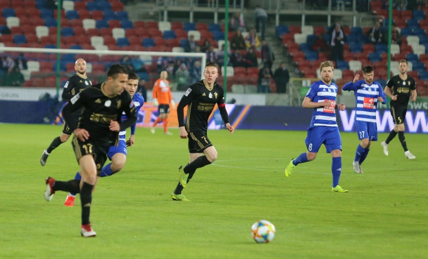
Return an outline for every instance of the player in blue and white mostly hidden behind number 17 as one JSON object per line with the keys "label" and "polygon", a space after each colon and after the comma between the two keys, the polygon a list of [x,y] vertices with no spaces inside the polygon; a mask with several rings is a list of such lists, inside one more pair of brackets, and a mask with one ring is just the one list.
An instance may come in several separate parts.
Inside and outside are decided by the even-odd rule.
{"label": "player in blue and white mostly hidden behind number 17", "polygon": [[[143,106],[144,98],[140,94],[136,93],[138,88],[138,80],[140,77],[130,71],[128,73],[128,82],[125,87],[125,90],[128,91],[129,95],[132,98],[131,105],[135,106],[135,112],[138,114],[138,111]],[[122,121],[126,120],[127,116],[125,112],[122,113]],[[119,171],[122,170],[122,168],[125,166],[126,157],[127,157],[127,147],[132,147],[132,145],[135,143],[135,129],[137,127],[137,122],[131,126],[131,136],[129,137],[129,140],[126,140],[126,130],[119,132],[119,142],[118,146],[110,146],[109,152],[107,153],[107,156],[112,161],[112,163],[109,163],[108,165],[105,165],[101,169],[101,173],[98,175],[99,177],[105,177],[105,176],[111,176]],[[77,172],[74,176],[74,180],[80,180],[81,176],[80,173]],[[75,193],[69,193],[67,195],[67,198],[65,199],[64,205],[72,207],[74,206],[74,200],[75,200],[76,194]]]}

